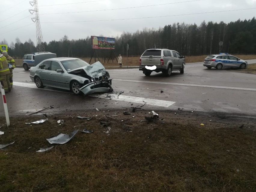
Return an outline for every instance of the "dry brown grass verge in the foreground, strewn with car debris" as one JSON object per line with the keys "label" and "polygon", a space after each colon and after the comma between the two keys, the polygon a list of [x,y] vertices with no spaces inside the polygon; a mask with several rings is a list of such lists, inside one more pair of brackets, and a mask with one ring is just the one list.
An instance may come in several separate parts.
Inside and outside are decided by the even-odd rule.
{"label": "dry brown grass verge in the foreground, strewn with car debris", "polygon": [[[0,144],[15,143],[0,151],[0,191],[256,190],[255,124],[241,129],[233,120],[209,122],[202,115],[170,117],[169,112],[160,112],[165,124],[148,123],[140,122],[148,112],[133,118],[118,111],[108,135],[99,121],[114,113],[74,112],[32,126],[25,122],[42,117],[11,118],[12,125],[1,128]],[[87,121],[78,114],[98,117]],[[84,128],[94,132],[78,132],[64,145],[35,152],[50,146],[46,138]]]}

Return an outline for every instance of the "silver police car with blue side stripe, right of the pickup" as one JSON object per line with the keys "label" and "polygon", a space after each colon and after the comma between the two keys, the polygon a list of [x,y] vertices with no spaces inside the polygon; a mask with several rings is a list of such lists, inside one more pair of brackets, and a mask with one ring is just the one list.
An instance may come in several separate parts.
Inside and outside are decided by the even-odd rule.
{"label": "silver police car with blue side stripe, right of the pickup", "polygon": [[247,61],[239,59],[228,53],[220,53],[219,55],[208,55],[203,62],[203,66],[211,69],[215,67],[216,69],[221,69],[223,67],[238,67],[240,69],[245,69],[248,66]]}

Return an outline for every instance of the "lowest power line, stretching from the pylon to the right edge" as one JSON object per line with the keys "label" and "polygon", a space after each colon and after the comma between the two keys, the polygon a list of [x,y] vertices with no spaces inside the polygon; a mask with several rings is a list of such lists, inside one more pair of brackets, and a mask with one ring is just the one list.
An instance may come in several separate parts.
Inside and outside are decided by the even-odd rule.
{"label": "lowest power line, stretching from the pylon to the right edge", "polygon": [[235,10],[227,10],[227,11],[211,11],[211,12],[190,13],[190,14],[180,14],[180,15],[166,15],[166,16],[156,16],[156,17],[138,17],[138,18],[126,18],[126,19],[91,20],[91,21],[41,22],[41,23],[79,23],[79,22],[96,22],[96,21],[118,21],[118,20],[133,20],[133,19],[148,19],[148,18],[159,18],[159,17],[173,17],[173,16],[184,16],[184,15],[196,15],[196,14],[206,14],[206,13],[220,13],[220,12],[242,11],[242,10],[251,10],[251,9],[256,9],[256,8],[235,9]]}

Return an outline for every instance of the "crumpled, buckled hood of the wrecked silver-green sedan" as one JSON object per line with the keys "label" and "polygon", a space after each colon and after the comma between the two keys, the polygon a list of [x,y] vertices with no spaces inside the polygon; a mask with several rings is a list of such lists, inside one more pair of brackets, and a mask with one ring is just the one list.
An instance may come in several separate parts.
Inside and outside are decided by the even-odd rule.
{"label": "crumpled, buckled hood of the wrecked silver-green sedan", "polygon": [[80,67],[78,69],[74,69],[72,71],[69,71],[68,73],[72,73],[75,71],[80,71],[81,69],[84,69],[87,75],[89,75],[92,78],[97,78],[100,76],[106,75],[105,67],[101,64],[101,62],[97,61],[96,63],[93,63],[90,66]]}

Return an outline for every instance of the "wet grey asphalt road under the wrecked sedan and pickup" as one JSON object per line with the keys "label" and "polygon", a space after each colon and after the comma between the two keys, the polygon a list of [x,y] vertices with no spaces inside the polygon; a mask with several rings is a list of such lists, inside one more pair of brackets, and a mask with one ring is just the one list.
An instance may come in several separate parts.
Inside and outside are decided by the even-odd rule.
{"label": "wet grey asphalt road under the wrecked sedan and pickup", "polygon": [[[256,63],[256,59],[248,60]],[[71,92],[45,87],[38,89],[30,81],[29,71],[14,70],[14,87],[6,94],[10,115],[29,114],[54,105],[50,111],[120,109],[147,104],[143,109],[200,112],[225,112],[254,116],[256,114],[256,75],[237,73],[237,69],[207,69],[202,63],[187,64],[184,74],[173,72],[171,77],[152,72],[145,76],[139,69],[108,70],[114,78],[112,99],[99,96],[76,96]],[[161,90],[163,93],[161,93]],[[122,93],[119,98],[117,95]],[[100,97],[105,97],[101,95]],[[1,100],[2,102],[2,100]],[[131,105],[133,104],[133,105]],[[45,111],[49,112],[49,110]],[[4,115],[0,105],[0,115]]]}

